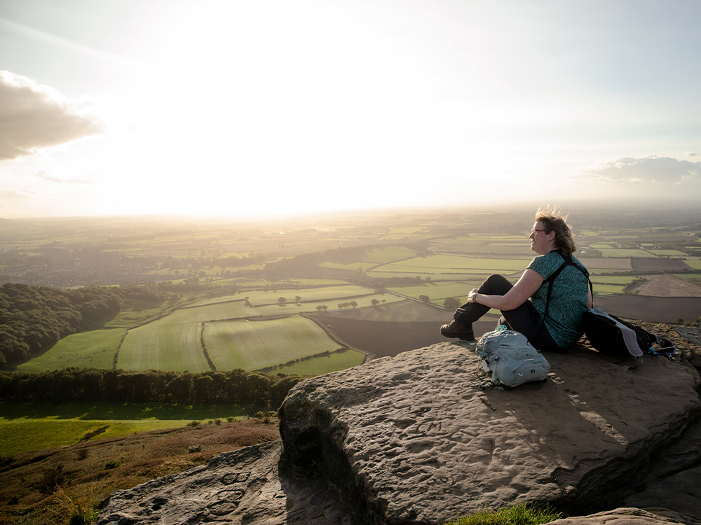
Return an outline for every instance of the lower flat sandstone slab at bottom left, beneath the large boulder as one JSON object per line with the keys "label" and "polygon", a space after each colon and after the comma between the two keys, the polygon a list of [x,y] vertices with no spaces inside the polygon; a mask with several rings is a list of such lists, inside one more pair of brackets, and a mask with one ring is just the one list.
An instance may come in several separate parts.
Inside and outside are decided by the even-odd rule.
{"label": "lower flat sandstone slab at bottom left, beneath the large boulder", "polygon": [[280,475],[281,442],[227,452],[208,465],[116,491],[97,525],[351,525],[326,484]]}

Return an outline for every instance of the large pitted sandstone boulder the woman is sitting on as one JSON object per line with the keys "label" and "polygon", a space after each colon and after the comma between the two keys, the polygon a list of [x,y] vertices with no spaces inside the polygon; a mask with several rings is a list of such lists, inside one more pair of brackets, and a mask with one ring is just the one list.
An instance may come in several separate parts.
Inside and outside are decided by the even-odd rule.
{"label": "large pitted sandstone boulder the woman is sitting on", "polygon": [[480,388],[474,346],[443,343],[303,381],[280,412],[284,459],[323,476],[358,523],[436,523],[522,502],[608,507],[699,413],[693,367],[635,370],[578,347],[547,381]]}

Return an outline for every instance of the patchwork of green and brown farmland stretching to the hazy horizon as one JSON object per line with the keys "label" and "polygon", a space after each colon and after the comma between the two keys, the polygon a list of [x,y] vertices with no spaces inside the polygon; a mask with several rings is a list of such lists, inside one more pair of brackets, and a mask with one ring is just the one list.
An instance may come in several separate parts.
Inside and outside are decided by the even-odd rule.
{"label": "patchwork of green and brown farmland stretching to the hazy horizon", "polygon": [[[619,212],[609,213],[608,225],[601,214],[573,213],[578,255],[597,297],[633,293],[625,304],[636,306],[619,314],[635,317],[655,311],[648,308],[655,297],[700,295],[701,260],[690,255],[699,246],[693,211],[679,219],[686,227],[660,224],[669,222],[662,213],[632,219],[627,212],[629,227],[611,228]],[[533,256],[529,215],[427,210],[239,225],[150,218],[139,228],[125,218],[29,221],[21,235],[4,233],[6,251],[69,255],[90,243],[122,267],[140,269],[137,282],[160,282],[168,292],[131,302],[97,330],[60,340],[18,370],[241,367],[306,375],[431,344],[440,340],[437,326],[451,317],[444,302],[464,302],[491,273],[518,279]],[[48,243],[50,236],[55,240]],[[56,261],[63,265],[61,257]],[[95,266],[88,264],[87,283],[107,279],[107,270]],[[46,272],[60,274],[50,266]],[[117,272],[109,283],[121,277]],[[683,305],[683,318],[701,315],[694,304]]]}

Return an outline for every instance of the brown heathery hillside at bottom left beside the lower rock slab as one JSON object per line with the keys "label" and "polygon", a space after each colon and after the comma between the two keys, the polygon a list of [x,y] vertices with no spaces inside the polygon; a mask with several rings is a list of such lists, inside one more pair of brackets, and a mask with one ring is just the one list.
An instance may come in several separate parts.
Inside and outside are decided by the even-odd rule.
{"label": "brown heathery hillside at bottom left beside the lower rock slab", "polygon": [[203,419],[196,425],[3,455],[0,523],[63,525],[76,503],[95,505],[118,489],[279,437],[277,419],[261,415],[233,422]]}

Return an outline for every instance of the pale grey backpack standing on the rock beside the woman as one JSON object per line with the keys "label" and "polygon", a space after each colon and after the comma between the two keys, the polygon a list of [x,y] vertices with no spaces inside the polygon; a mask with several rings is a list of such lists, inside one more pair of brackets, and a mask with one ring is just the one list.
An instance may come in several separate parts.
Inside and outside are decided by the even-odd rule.
{"label": "pale grey backpack standing on the rock beside the woman", "polygon": [[486,332],[477,342],[477,356],[496,385],[519,386],[529,381],[543,381],[550,363],[533,348],[526,336],[513,330]]}

